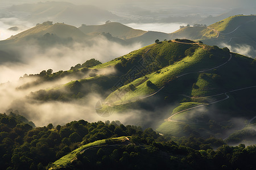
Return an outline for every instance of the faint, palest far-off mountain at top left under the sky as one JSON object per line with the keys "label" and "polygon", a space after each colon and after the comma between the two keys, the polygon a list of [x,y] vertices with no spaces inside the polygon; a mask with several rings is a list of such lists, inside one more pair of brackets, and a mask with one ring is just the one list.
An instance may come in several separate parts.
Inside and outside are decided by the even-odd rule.
{"label": "faint, palest far-off mountain at top left under the sky", "polygon": [[[64,22],[71,25],[97,24],[106,20],[116,20],[119,16],[96,6],[74,5],[69,2],[38,2],[13,5],[10,12],[26,12],[25,20],[42,23],[46,20]],[[93,17],[92,17],[93,16]]]}

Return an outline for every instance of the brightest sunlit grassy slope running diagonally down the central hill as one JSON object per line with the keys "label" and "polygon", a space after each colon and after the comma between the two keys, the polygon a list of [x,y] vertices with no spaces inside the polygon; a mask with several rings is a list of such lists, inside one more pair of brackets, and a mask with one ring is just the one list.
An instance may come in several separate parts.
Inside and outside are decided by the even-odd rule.
{"label": "brightest sunlit grassy slope running diagonally down the central hill", "polygon": [[[158,45],[158,47],[163,49],[170,48],[170,45],[177,45],[176,43],[170,43],[165,42],[165,44]],[[179,44],[180,45],[180,44]],[[184,44],[181,44],[180,48],[182,48]],[[157,45],[156,45],[157,46]],[[171,48],[170,48],[171,49]],[[156,49],[159,50],[159,49]],[[170,54],[171,52],[168,52],[168,50],[164,51],[166,54]],[[162,53],[158,53],[161,55]],[[159,89],[160,87],[164,86],[165,82],[168,82],[173,77],[176,77],[178,75],[189,73],[192,71],[200,71],[203,69],[207,69],[210,67],[214,67],[220,63],[218,59],[212,59],[212,61],[209,60],[209,53],[207,50],[203,48],[199,48],[196,50],[195,54],[193,54],[192,57],[185,57],[179,62],[174,63],[174,65],[170,65],[167,67],[164,67],[163,69],[159,70],[160,73],[155,72],[152,74],[147,75],[148,80],[150,80],[152,83],[156,85],[156,87]],[[113,97],[115,95],[118,95],[119,91],[125,90],[129,88],[130,84],[139,84],[138,86],[135,86],[135,91],[129,91],[126,93],[125,96],[122,97],[123,101],[127,100],[134,100],[138,99],[138,97],[151,94],[152,92],[155,92],[156,89],[150,88],[146,86],[146,82],[143,82],[144,77],[134,80],[133,82],[119,88],[119,90],[114,91],[112,94],[109,95],[109,97],[106,100],[112,100],[115,101]],[[143,82],[143,83],[139,83]],[[119,95],[120,96],[120,95]],[[118,103],[118,101],[117,101]]]}

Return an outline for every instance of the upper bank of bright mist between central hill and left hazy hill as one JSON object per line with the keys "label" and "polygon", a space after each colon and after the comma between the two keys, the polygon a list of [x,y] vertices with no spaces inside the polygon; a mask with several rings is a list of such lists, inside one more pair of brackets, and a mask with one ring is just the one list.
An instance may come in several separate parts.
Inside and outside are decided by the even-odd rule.
{"label": "upper bank of bright mist between central hill and left hazy hill", "polygon": [[58,45],[42,50],[39,45],[26,45],[16,48],[22,63],[0,65],[0,83],[17,80],[24,74],[36,74],[42,70],[69,70],[77,63],[95,58],[102,63],[123,56],[132,50],[141,48],[141,44],[121,45],[108,41],[105,37],[96,37],[93,45],[87,46],[75,42],[72,46]]}

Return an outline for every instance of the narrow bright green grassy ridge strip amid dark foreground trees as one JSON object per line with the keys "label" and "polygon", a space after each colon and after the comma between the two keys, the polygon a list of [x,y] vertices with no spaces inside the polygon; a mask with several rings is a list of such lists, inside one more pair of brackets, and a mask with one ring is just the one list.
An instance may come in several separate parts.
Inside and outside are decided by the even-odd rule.
{"label": "narrow bright green grassy ridge strip amid dark foreground trees", "polygon": [[[114,141],[123,141],[126,139],[126,137],[118,137],[118,138],[111,138]],[[79,148],[77,148],[76,150],[72,151],[71,153],[69,153],[68,155],[63,156],[62,158],[60,158],[59,160],[56,160],[56,162],[54,162],[53,164],[53,168],[57,168],[57,167],[65,167],[67,166],[69,163],[72,162],[73,159],[76,158],[76,155],[79,154],[81,151],[85,150],[88,147],[93,147],[93,146],[99,146],[99,145],[105,145],[106,144],[106,139],[102,139],[99,141],[95,141],[92,143],[88,143],[86,145],[83,145]]]}

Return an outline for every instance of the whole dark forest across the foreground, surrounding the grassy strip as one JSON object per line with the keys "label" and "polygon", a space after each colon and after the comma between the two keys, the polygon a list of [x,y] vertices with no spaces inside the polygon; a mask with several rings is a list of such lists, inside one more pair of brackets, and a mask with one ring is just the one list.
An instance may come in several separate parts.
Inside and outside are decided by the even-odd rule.
{"label": "whole dark forest across the foreground, surrounding the grassy strip", "polygon": [[[124,126],[119,121],[72,121],[32,128],[15,117],[0,114],[0,164],[2,169],[46,169],[81,145],[100,139],[130,136],[127,145],[96,147],[77,156],[72,169],[250,169],[255,167],[256,147],[230,147],[221,139],[175,139],[151,128]],[[175,141],[174,141],[175,140]],[[219,147],[213,150],[213,147]]]}

